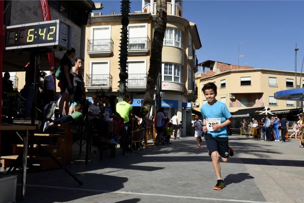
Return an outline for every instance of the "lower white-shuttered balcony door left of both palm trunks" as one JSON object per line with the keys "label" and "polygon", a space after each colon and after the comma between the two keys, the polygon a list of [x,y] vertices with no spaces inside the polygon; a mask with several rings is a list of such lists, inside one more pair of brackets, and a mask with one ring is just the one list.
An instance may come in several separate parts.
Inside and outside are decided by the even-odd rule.
{"label": "lower white-shuttered balcony door left of both palm trunks", "polygon": [[90,86],[109,86],[110,85],[110,62],[91,61],[91,74],[89,77]]}

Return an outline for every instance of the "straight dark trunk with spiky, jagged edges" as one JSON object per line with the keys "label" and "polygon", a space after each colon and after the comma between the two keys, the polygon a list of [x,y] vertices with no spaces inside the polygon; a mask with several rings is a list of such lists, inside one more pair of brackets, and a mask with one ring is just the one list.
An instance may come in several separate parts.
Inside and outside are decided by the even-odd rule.
{"label": "straight dark trunk with spiky, jagged edges", "polygon": [[118,89],[118,101],[123,101],[123,95],[126,94],[126,79],[128,79],[127,67],[128,67],[128,25],[129,25],[129,12],[130,1],[121,1],[121,39],[120,39],[120,56],[119,56],[119,89]]}

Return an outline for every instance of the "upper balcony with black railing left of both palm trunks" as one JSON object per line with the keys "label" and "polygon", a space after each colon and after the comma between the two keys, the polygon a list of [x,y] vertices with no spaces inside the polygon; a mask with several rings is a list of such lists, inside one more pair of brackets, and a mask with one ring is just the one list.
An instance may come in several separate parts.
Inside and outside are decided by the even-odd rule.
{"label": "upper balcony with black railing left of both palm trunks", "polygon": [[113,53],[113,40],[88,40],[87,53],[90,57],[110,56]]}

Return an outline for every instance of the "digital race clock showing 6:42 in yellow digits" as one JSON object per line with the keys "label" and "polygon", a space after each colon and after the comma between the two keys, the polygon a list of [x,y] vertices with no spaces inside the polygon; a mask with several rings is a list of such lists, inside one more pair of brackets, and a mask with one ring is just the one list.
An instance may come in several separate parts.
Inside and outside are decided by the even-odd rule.
{"label": "digital race clock showing 6:42 in yellow digits", "polygon": [[71,49],[71,26],[51,20],[6,27],[5,50],[32,47]]}

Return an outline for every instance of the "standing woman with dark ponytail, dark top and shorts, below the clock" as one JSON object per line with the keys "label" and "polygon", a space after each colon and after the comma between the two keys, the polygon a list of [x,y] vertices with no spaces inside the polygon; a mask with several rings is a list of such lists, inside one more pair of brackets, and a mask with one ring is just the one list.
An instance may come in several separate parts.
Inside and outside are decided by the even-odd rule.
{"label": "standing woman with dark ponytail, dark top and shorts, below the clock", "polygon": [[74,93],[74,77],[71,74],[72,62],[71,59],[75,57],[76,50],[71,48],[67,50],[63,58],[60,61],[60,68],[63,71],[61,75],[61,99],[59,102],[59,114],[68,115],[69,112],[69,101]]}

